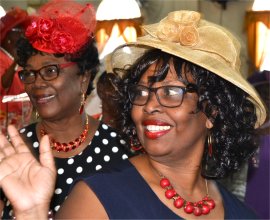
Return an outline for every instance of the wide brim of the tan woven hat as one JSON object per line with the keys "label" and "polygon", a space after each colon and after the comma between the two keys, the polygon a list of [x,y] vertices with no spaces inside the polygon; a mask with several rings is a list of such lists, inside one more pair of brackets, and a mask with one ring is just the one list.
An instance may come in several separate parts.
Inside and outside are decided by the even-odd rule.
{"label": "wide brim of the tan woven hat", "polygon": [[249,94],[250,101],[256,107],[257,121],[255,128],[258,128],[264,123],[266,119],[266,109],[254,87],[243,78],[240,72],[235,71],[213,56],[207,56],[204,51],[196,50],[194,53],[194,48],[190,49],[179,45],[176,46],[175,43],[159,41],[146,35],[138,38],[135,43],[127,43],[116,48],[110,55],[110,68],[125,68],[125,66],[132,65],[147,50],[153,48],[160,49],[166,53],[201,66],[245,91]]}

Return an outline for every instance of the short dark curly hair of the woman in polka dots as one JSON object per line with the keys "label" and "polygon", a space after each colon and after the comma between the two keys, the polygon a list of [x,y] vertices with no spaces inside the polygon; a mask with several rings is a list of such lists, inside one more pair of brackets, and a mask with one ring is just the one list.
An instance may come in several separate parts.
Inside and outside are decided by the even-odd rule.
{"label": "short dark curly hair of the woman in polka dots", "polygon": [[[28,59],[36,54],[45,54],[39,50],[32,47],[28,39],[20,38],[16,44],[18,64],[25,67]],[[84,75],[86,71],[90,72],[90,82],[86,91],[89,95],[93,87],[93,81],[99,71],[100,61],[98,57],[98,50],[96,47],[96,42],[94,39],[88,41],[88,43],[82,47],[80,51],[75,54],[54,54],[55,57],[65,57],[67,61],[76,62],[80,71],[79,75]]]}

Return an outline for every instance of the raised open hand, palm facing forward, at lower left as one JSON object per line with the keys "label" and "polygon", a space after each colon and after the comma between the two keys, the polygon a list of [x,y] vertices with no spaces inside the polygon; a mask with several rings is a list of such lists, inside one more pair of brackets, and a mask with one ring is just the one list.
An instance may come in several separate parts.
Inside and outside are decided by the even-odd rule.
{"label": "raised open hand, palm facing forward, at lower left", "polygon": [[8,127],[8,133],[11,143],[0,135],[0,187],[17,219],[47,218],[56,179],[49,138],[41,139],[37,161],[14,126]]}

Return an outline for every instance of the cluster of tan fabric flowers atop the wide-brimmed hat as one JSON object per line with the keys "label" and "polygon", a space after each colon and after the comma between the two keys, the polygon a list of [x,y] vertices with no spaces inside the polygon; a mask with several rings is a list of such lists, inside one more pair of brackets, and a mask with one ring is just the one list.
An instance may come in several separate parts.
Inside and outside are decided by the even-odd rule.
{"label": "cluster of tan fabric flowers atop the wide-brimmed hat", "polygon": [[183,46],[194,46],[199,41],[197,25],[200,14],[190,11],[177,11],[169,13],[163,19],[157,30],[160,40],[167,40],[180,43]]}

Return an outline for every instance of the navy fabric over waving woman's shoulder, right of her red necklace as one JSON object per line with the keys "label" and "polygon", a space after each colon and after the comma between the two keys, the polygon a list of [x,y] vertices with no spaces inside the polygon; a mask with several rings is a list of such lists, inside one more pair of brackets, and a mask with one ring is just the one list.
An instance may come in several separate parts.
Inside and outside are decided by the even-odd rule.
{"label": "navy fabric over waving woman's shoulder, right of her red necklace", "polygon": [[225,219],[258,219],[256,213],[250,207],[229,192],[221,183],[216,183],[222,195]]}

